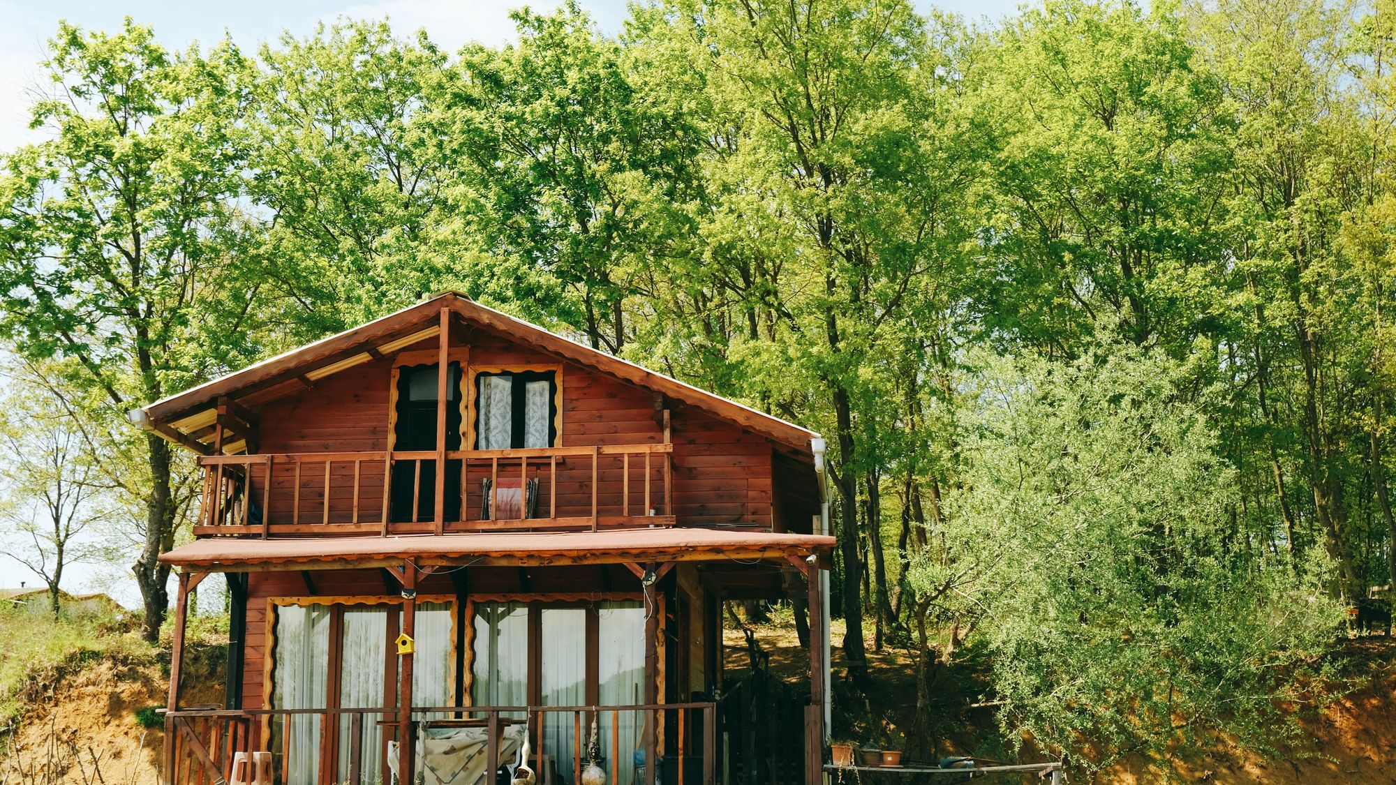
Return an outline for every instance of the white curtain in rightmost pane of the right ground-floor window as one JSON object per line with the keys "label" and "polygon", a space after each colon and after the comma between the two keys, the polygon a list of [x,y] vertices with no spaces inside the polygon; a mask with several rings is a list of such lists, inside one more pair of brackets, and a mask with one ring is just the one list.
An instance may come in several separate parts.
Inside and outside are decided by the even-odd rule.
{"label": "white curtain in rightmost pane of the right ground-floor window", "polygon": [[[597,700],[600,705],[635,705],[645,700],[645,608],[639,602],[603,602],[596,609],[599,627],[596,631],[596,659],[599,682]],[[644,722],[637,712],[621,712],[618,744],[611,743],[611,718],[602,714],[602,754],[610,761],[611,750],[620,751],[618,767],[621,785],[632,785],[635,767],[634,750],[639,747],[639,729]]]}

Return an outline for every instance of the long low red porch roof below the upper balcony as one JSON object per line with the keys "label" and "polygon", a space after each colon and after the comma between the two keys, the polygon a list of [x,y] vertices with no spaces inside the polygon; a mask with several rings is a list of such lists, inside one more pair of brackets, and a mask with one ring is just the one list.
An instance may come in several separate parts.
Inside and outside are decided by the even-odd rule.
{"label": "long low red porch roof below the upper balcony", "polygon": [[205,538],[161,555],[193,571],[332,570],[420,564],[614,564],[621,562],[720,562],[819,556],[833,538],[764,531],[642,528],[582,532],[483,532],[285,539]]}

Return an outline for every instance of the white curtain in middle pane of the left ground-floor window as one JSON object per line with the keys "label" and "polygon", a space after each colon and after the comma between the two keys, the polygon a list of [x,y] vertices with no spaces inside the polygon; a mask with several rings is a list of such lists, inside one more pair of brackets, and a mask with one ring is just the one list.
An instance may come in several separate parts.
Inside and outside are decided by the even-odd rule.
{"label": "white curtain in middle pane of the left ground-floor window", "polygon": [[[384,656],[388,636],[388,609],[384,606],[346,606],[341,636],[339,705],[343,708],[384,708]],[[362,782],[380,778],[383,770],[383,728],[380,714],[364,714],[359,772]],[[349,749],[353,729],[349,715],[339,718],[339,779],[349,778]]]}

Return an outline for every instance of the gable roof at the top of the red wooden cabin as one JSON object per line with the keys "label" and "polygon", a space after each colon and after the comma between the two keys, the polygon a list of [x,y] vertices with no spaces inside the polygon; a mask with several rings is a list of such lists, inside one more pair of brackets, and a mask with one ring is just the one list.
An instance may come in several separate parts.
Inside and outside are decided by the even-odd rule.
{"label": "gable roof at the top of the red wooden cabin", "polygon": [[438,320],[443,309],[448,309],[452,316],[470,325],[610,374],[637,387],[660,392],[674,401],[759,433],[797,455],[812,458],[811,440],[819,439],[819,434],[812,430],[592,349],[536,324],[482,306],[458,292],[434,295],[396,313],[253,363],[183,392],[168,395],[133,409],[130,419],[135,425],[155,430],[165,439],[207,453],[208,443],[198,434],[207,432],[208,426],[212,425],[221,398],[248,402],[250,395],[271,391],[274,387],[296,384],[297,380],[300,384],[309,384],[433,338],[440,332]]}

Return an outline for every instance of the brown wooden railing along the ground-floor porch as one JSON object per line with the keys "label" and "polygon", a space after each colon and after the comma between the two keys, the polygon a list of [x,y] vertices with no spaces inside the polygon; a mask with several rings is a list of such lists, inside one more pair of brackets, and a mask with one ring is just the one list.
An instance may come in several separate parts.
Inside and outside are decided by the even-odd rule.
{"label": "brown wooden railing along the ground-floor porch", "polygon": [[[166,712],[165,721],[166,785],[253,782],[250,771],[239,771],[251,768],[253,753],[269,754],[271,785],[395,781],[395,708],[180,710]],[[518,763],[526,733],[539,784],[575,785],[591,758],[593,722],[610,785],[718,782],[713,703],[419,708],[412,722],[416,774],[433,767],[437,779],[424,778],[429,782],[444,779],[444,772],[454,785],[493,785],[501,768]],[[455,738],[429,749],[440,733]],[[645,765],[649,760],[659,761],[653,771]]]}

